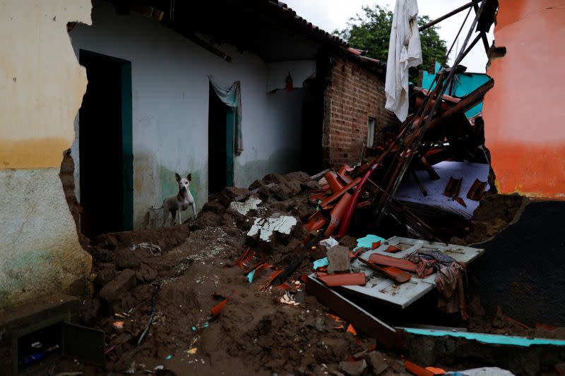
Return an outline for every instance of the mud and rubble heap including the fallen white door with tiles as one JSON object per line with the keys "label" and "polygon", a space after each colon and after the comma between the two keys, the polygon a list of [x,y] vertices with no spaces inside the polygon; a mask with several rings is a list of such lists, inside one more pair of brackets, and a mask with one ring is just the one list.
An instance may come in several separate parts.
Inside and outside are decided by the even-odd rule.
{"label": "mud and rubble heap including the fallen white door with tiles", "polygon": [[[418,291],[416,298],[435,289],[432,269],[421,265],[422,259],[441,264],[434,247],[462,263],[477,257],[478,250],[465,255],[474,248],[398,236],[339,237],[335,221],[335,237],[326,237],[331,212],[342,198],[328,200],[334,192],[328,181],[319,180],[325,175],[345,188],[349,183],[338,175],[351,176],[359,168],[345,166],[350,169],[346,174],[326,171],[314,180],[302,173],[270,174],[249,189],[226,188],[181,226],[93,239],[94,290],[81,318],[106,332],[107,370],[407,372],[405,361],[383,344],[396,344],[399,329],[380,320],[375,325],[378,319],[351,305],[347,291],[367,289],[401,306],[403,289]],[[359,200],[359,210],[366,200],[369,195]],[[316,217],[323,222],[317,231]],[[368,228],[356,227],[350,232]],[[320,285],[312,285],[312,279]],[[340,303],[326,300],[328,293],[337,293]],[[469,305],[471,323],[480,320],[478,306]],[[475,329],[481,328],[477,324]],[[449,369],[440,363],[427,365]]]}

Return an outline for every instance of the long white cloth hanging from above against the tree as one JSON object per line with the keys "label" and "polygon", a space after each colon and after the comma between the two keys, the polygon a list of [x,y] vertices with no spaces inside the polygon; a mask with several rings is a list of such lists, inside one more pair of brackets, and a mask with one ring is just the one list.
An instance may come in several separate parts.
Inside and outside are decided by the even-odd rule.
{"label": "long white cloth hanging from above against the tree", "polygon": [[385,108],[400,121],[408,116],[408,68],[422,63],[417,0],[396,0],[386,61]]}

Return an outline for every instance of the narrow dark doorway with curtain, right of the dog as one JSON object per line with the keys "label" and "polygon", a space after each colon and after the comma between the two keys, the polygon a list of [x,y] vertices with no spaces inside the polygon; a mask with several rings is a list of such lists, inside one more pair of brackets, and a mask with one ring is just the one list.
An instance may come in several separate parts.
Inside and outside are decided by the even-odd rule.
{"label": "narrow dark doorway with curtain, right of the dog", "polygon": [[208,195],[234,184],[235,111],[208,89]]}

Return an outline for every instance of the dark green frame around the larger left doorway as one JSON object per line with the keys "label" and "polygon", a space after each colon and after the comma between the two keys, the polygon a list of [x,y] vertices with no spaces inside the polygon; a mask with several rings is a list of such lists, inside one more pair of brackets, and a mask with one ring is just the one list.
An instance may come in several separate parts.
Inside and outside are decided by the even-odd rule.
{"label": "dark green frame around the larger left doorway", "polygon": [[[131,93],[131,61],[79,49],[79,56],[90,55],[119,63],[121,79],[121,194],[123,231],[133,230],[133,108]],[[80,59],[80,57],[79,57]],[[79,124],[80,126],[80,124]]]}

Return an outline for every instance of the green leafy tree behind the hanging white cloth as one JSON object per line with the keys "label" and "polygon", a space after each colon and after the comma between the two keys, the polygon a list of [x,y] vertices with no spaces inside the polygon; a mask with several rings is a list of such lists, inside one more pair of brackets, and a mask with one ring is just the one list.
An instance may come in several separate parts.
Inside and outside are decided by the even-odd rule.
{"label": "green leafy tree behind the hanging white cloth", "polygon": [[[350,18],[347,28],[335,30],[334,33],[350,43],[351,47],[367,51],[367,56],[386,63],[388,56],[388,40],[391,37],[393,12],[375,5],[363,6],[363,14]],[[418,24],[429,23],[429,16],[418,16]],[[410,80],[420,82],[422,69],[431,69],[434,61],[443,61],[447,52],[446,42],[439,37],[435,26],[420,32],[423,64],[410,68]]]}

